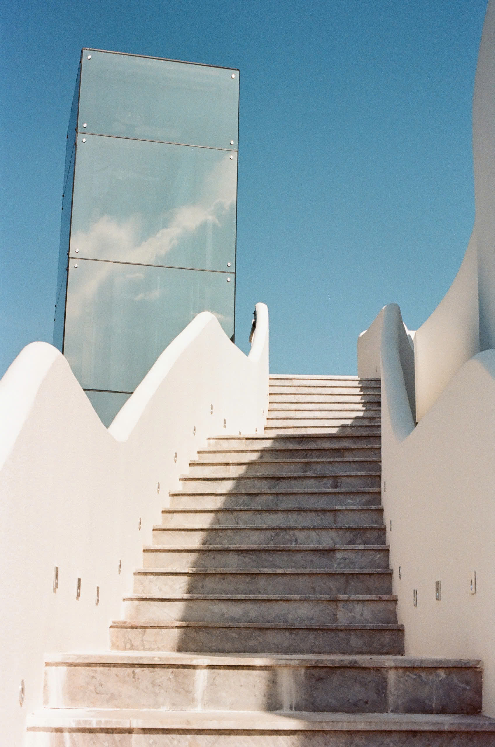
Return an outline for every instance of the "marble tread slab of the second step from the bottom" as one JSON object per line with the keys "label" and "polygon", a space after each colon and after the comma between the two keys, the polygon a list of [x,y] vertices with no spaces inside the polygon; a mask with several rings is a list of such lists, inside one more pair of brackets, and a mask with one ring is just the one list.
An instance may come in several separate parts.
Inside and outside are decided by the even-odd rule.
{"label": "marble tread slab of the second step from the bottom", "polygon": [[476,669],[479,659],[408,657],[396,654],[202,654],[189,651],[106,651],[101,654],[46,654],[47,664],[125,664],[128,666],[323,666],[373,669]]}

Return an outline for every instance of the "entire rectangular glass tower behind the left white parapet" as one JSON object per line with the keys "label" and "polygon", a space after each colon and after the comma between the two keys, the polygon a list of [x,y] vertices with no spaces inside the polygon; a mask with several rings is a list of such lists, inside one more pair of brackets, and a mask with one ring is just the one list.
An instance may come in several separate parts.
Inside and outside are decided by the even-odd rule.
{"label": "entire rectangular glass tower behind the left white parapet", "polygon": [[199,313],[234,335],[239,72],[84,49],[54,344],[109,425]]}

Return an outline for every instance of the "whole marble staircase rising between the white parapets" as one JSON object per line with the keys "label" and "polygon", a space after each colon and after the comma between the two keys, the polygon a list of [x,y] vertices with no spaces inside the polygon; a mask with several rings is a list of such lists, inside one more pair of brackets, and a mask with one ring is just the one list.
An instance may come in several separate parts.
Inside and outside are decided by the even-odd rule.
{"label": "whole marble staircase rising between the white parapets", "polygon": [[46,658],[30,747],[495,746],[478,660],[405,657],[380,382],[271,376],[170,495],[107,654]]}

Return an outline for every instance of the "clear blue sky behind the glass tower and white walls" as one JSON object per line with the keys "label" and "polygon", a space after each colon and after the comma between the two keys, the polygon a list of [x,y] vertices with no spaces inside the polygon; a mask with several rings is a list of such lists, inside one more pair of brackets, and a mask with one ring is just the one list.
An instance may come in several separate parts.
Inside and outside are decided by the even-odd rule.
{"label": "clear blue sky behind the glass tower and white walls", "polygon": [[240,68],[236,342],[273,373],[355,373],[395,301],[416,329],[473,226],[486,0],[16,0],[0,10],[0,376],[52,341],[82,46]]}

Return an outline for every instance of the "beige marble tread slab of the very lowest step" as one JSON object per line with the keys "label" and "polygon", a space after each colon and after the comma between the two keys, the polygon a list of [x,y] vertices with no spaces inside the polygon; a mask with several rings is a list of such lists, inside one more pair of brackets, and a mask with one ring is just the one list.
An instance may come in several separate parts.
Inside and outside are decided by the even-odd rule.
{"label": "beige marble tread slab of the very lowest step", "polygon": [[423,713],[304,713],[164,710],[41,709],[28,717],[28,730],[156,729],[206,731],[485,731],[495,733],[488,716]]}

